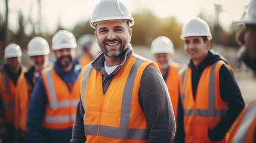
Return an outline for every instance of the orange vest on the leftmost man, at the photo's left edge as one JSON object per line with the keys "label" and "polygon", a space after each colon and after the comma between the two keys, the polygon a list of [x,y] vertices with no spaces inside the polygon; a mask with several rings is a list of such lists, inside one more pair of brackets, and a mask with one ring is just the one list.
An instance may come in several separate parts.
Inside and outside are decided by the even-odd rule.
{"label": "orange vest on the leftmost man, at the photo's left edge", "polygon": [[[20,74],[23,73],[24,71],[21,70]],[[1,122],[5,124],[14,125],[15,92],[16,85],[14,85],[10,77],[8,77],[8,75],[2,71],[0,73],[0,95],[2,96],[4,104],[5,118]]]}

